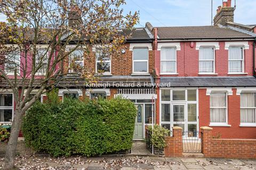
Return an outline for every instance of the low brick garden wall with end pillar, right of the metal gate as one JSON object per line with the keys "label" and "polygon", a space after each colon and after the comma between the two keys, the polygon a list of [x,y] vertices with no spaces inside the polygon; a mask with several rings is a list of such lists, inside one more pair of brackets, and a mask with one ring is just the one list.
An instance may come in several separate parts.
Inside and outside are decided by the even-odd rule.
{"label": "low brick garden wall with end pillar, right of the metal gate", "polygon": [[256,139],[213,139],[212,128],[201,127],[205,157],[256,158]]}

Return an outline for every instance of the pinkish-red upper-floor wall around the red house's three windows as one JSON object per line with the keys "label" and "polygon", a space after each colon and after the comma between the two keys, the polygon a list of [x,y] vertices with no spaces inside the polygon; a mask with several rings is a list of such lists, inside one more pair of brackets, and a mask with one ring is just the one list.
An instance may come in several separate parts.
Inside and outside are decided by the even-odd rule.
{"label": "pinkish-red upper-floor wall around the red house's three windows", "polygon": [[[216,76],[245,76],[228,75],[228,50],[225,49],[225,41],[219,41],[219,50],[215,50],[215,73]],[[245,73],[253,75],[253,41],[249,41],[249,49],[244,50]],[[196,43],[193,48],[190,42],[180,42],[181,50],[177,51],[177,73],[178,75],[161,75],[162,77],[209,77],[209,75],[198,75],[199,50],[196,50]],[[155,50],[155,67],[161,72],[161,52]]]}

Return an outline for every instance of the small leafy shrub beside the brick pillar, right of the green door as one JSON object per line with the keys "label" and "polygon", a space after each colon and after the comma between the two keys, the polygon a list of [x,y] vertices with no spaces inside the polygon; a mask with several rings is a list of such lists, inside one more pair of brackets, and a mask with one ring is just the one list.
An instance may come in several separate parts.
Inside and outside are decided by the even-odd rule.
{"label": "small leafy shrub beside the brick pillar, right of the green door", "polygon": [[164,148],[166,146],[165,137],[170,133],[170,130],[162,127],[161,125],[148,126],[150,133],[150,142],[155,148]]}

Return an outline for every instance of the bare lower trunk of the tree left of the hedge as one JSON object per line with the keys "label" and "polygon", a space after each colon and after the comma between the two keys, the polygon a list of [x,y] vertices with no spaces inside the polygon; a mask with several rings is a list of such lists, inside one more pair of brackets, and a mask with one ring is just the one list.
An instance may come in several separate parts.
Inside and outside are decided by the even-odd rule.
{"label": "bare lower trunk of the tree left of the hedge", "polygon": [[19,109],[15,109],[14,118],[12,122],[11,135],[9,138],[9,142],[7,144],[6,154],[5,154],[5,165],[4,169],[11,170],[14,169],[14,159],[15,153],[17,149],[19,132],[22,125],[22,113]]}

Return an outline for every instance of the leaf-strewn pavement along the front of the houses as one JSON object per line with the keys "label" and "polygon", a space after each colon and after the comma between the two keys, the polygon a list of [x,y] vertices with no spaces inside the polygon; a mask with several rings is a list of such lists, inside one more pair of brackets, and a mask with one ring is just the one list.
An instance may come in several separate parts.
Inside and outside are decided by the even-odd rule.
{"label": "leaf-strewn pavement along the front of the houses", "polygon": [[[1,163],[4,158],[0,158]],[[256,160],[252,159],[217,159],[217,158],[166,158],[166,157],[60,157],[50,156],[17,156],[15,166],[25,169],[73,169],[73,170],[100,170],[100,169],[206,169],[206,170],[233,170],[256,169]]]}

